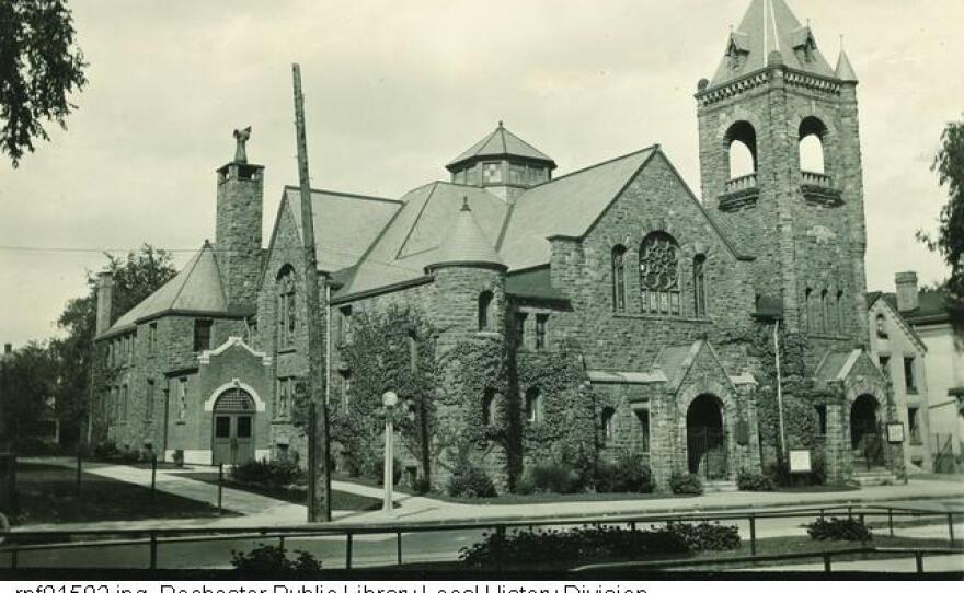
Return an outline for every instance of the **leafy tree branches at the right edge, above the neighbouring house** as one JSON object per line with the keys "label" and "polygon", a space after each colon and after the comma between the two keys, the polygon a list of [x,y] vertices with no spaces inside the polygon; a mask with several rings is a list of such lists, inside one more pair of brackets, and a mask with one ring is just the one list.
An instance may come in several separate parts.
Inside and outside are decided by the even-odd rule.
{"label": "leafy tree branches at the right edge, above the neighbouring house", "polygon": [[951,268],[945,283],[951,319],[964,330],[964,121],[951,121],[941,133],[941,148],[931,164],[941,187],[948,187],[948,202],[941,209],[937,239],[918,231],[917,237],[939,253]]}

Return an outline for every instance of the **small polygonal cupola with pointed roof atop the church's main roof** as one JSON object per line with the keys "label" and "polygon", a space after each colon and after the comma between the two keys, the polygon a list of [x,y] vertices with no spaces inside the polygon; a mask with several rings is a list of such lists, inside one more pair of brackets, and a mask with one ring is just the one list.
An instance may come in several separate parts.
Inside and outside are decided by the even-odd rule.
{"label": "small polygonal cupola with pointed roof atop the church's main roof", "polygon": [[446,165],[452,183],[487,188],[506,201],[552,178],[555,161],[508,131],[502,121]]}

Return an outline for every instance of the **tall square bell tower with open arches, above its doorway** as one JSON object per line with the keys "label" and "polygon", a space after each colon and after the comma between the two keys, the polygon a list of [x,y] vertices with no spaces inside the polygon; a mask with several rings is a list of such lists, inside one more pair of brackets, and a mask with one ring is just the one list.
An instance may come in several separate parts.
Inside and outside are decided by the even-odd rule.
{"label": "tall square bell tower with open arches, above its doorway", "polygon": [[[696,94],[703,202],[816,350],[867,342],[857,77],[784,0],[753,0]],[[823,346],[823,348],[822,348]]]}

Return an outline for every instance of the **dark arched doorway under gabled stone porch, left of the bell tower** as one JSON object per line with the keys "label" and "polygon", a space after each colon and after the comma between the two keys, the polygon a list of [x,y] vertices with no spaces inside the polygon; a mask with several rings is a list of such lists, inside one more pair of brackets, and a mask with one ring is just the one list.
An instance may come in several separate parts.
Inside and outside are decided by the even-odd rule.
{"label": "dark arched doorway under gabled stone porch, left of the bell tower", "polygon": [[708,480],[730,476],[723,405],[715,396],[703,394],[689,405],[686,412],[686,444],[691,474]]}

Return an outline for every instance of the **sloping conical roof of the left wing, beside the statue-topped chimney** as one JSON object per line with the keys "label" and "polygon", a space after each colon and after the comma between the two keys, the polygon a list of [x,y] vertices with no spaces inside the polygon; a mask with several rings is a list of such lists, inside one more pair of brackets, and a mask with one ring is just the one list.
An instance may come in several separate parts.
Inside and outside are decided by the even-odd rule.
{"label": "sloping conical roof of the left wing, beside the statue-topped chimney", "polygon": [[[134,329],[141,319],[164,313],[231,314],[210,243],[195,254],[177,275],[117,319],[99,338]],[[239,313],[240,314],[240,313]]]}

